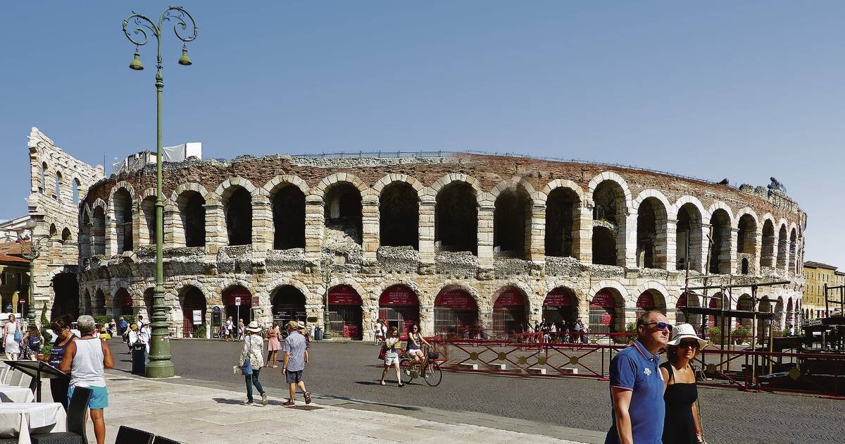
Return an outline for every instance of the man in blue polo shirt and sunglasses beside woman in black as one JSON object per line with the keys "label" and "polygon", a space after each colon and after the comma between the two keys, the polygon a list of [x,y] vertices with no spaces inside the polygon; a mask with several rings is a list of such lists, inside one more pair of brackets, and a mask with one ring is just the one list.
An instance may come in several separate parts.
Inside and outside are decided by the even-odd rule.
{"label": "man in blue polo shirt and sunglasses beside woman in black", "polygon": [[610,361],[613,425],[605,444],[660,444],[663,433],[663,378],[657,352],[669,341],[666,316],[646,311],[636,321],[637,338]]}

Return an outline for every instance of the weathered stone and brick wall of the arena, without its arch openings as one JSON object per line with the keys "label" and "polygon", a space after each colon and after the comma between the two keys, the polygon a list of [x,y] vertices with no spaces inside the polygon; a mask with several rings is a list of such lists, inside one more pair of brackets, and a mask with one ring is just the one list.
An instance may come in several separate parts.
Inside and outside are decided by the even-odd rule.
{"label": "weathered stone and brick wall of the arena, without its arch openings", "polygon": [[[379,196],[394,181],[409,184],[418,199],[417,249],[379,245]],[[592,262],[593,191],[603,181],[611,181],[618,189],[616,206],[617,265],[599,266]],[[435,244],[435,207],[438,192],[452,182],[469,185],[477,202],[477,254],[441,251]],[[361,195],[360,232],[325,221],[325,199],[337,184],[348,184]],[[304,248],[275,250],[272,197],[284,186],[296,187],[305,201]],[[155,169],[134,175],[112,176],[94,184],[81,211],[96,206],[113,214],[114,195],[125,189],[132,196],[133,229],[143,234],[149,225],[143,202],[155,196]],[[251,196],[251,245],[229,246],[226,237],[226,205],[231,190],[241,187]],[[494,251],[493,227],[497,197],[504,189],[518,187],[530,199],[526,220],[526,252],[511,257],[513,252]],[[572,257],[546,256],[546,200],[554,189],[569,189],[577,196],[570,213]],[[748,187],[750,188],[750,187]],[[179,334],[182,320],[181,298],[187,286],[198,288],[210,309],[222,306],[222,293],[232,285],[240,285],[259,297],[255,315],[270,320],[270,298],[281,285],[292,285],[306,296],[308,316],[322,323],[324,263],[331,262],[330,287],[346,284],[355,288],[363,299],[364,337],[371,336],[372,321],[378,316],[379,296],[384,288],[401,283],[417,293],[420,300],[424,332],[433,331],[433,299],[443,288],[464,288],[476,299],[483,324],[489,325],[493,302],[504,287],[515,287],[527,301],[532,320],[542,316],[542,302],[553,288],[570,288],[578,298],[578,313],[586,321],[588,304],[602,288],[612,289],[622,302],[618,304],[618,325],[634,320],[636,301],[643,292],[657,294],[659,307],[674,319],[674,308],[684,287],[684,270],[676,260],[679,245],[675,225],[679,208],[695,206],[700,213],[697,233],[691,246],[691,258],[699,265],[690,270],[691,277],[705,271],[708,248],[706,239],[714,211],[725,211],[729,230],[722,244],[713,247],[722,254],[720,271],[732,272],[711,278],[713,282],[763,282],[786,279],[791,283],[773,288],[772,298],[798,298],[803,277],[796,274],[796,263],[803,258],[806,217],[792,200],[783,195],[760,193],[757,189],[734,189],[726,185],[679,178],[621,167],[573,162],[550,162],[513,156],[455,155],[443,157],[404,158],[306,158],[292,156],[240,156],[232,161],[191,159],[165,165],[166,290],[171,307],[173,329]],[[183,218],[178,201],[183,193],[195,192],[204,199],[205,244],[185,248]],[[649,245],[658,268],[642,268],[641,239],[637,237],[638,210],[646,201],[655,217],[641,218],[656,224],[647,232]],[[749,214],[755,222],[755,252],[737,254],[739,217]],[[506,217],[504,215],[503,217]],[[788,264],[780,268],[760,266],[760,245],[764,221],[786,227],[795,233]],[[644,234],[641,233],[641,237]],[[113,315],[117,313],[113,298],[119,288],[133,296],[134,310],[144,310],[148,302],[144,292],[155,280],[153,249],[150,236],[136,235],[132,254],[117,255],[117,227],[106,222],[106,255],[91,255],[92,246],[81,246],[85,259],[79,275],[83,310]],[[696,240],[697,239],[697,240]],[[777,256],[777,251],[775,252]],[[712,254],[712,252],[711,252]],[[741,260],[750,260],[750,275],[742,276]],[[800,270],[800,267],[798,267]],[[694,281],[691,285],[695,285]],[[763,290],[761,290],[762,292]],[[97,294],[104,295],[98,301]],[[713,293],[713,292],[711,292]],[[760,293],[762,295],[762,293]],[[733,295],[733,304],[739,295]],[[694,298],[691,298],[694,299]],[[622,306],[624,304],[624,306]],[[695,301],[690,302],[695,304]],[[701,301],[698,301],[701,304]]]}

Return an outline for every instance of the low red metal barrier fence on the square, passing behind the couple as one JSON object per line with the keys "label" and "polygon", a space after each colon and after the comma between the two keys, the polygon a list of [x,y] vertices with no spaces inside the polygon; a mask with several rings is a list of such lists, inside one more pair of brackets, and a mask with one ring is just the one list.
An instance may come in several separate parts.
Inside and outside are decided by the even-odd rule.
{"label": "low red metal barrier fence on the square, passing behind the couple", "polygon": [[[444,370],[495,375],[587,377],[607,380],[610,360],[630,333],[588,333],[588,343],[542,342],[542,334],[513,340],[428,338]],[[776,353],[711,345],[695,358],[699,384],[744,391],[799,392],[845,399],[845,354]]]}

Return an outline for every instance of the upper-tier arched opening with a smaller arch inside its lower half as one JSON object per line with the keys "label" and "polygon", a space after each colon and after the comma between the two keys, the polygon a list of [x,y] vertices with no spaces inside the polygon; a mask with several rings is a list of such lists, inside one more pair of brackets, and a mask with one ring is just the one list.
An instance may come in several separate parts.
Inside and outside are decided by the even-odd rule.
{"label": "upper-tier arched opening with a smaller arch inside its lower half", "polygon": [[[619,250],[619,233],[624,233],[625,194],[612,180],[602,181],[592,193],[592,261],[594,264],[624,266],[624,249]],[[613,257],[611,257],[611,255]]]}

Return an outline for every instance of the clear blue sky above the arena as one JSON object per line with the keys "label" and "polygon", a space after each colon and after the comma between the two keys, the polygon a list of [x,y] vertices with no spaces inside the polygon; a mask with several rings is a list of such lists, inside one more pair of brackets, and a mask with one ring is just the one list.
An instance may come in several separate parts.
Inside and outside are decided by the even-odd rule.
{"label": "clear blue sky above the arena", "polygon": [[[123,19],[168,3],[0,3],[0,217],[25,214],[26,135],[106,162],[155,145],[155,49]],[[166,35],[165,145],[204,156],[488,150],[774,176],[808,260],[845,267],[845,3],[186,1]]]}

